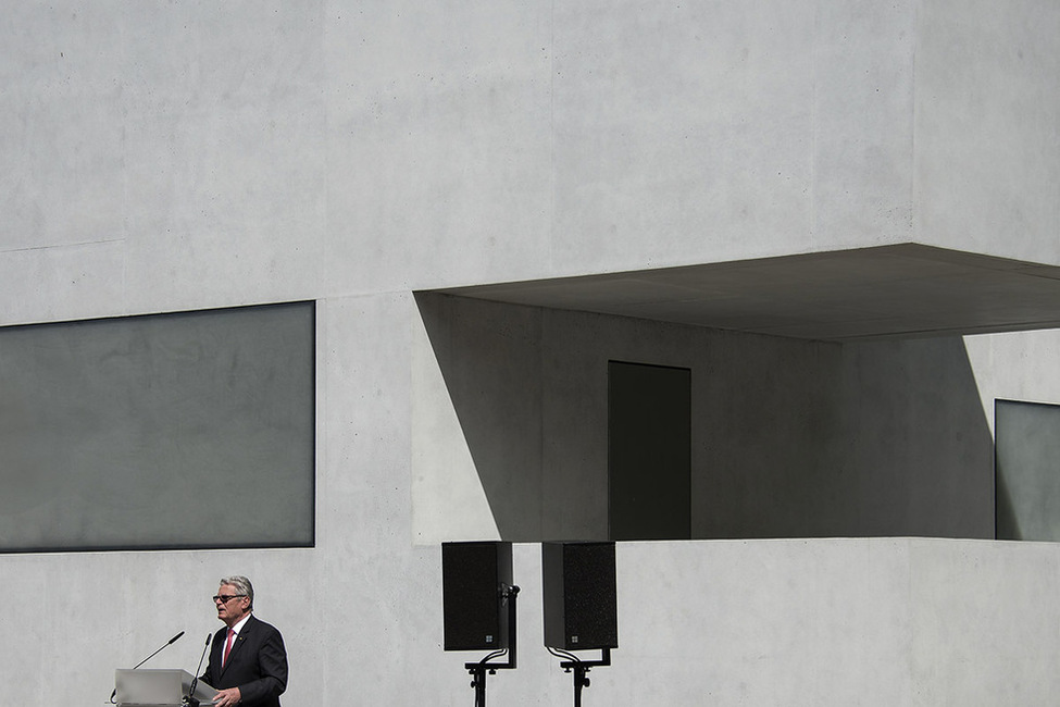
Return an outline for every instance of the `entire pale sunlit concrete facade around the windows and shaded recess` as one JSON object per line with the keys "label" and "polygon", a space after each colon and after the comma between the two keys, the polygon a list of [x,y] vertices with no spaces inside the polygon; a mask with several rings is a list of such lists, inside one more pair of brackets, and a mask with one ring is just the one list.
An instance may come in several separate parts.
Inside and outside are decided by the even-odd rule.
{"label": "entire pale sunlit concrete facade around the windows and shaded recess", "polygon": [[[320,302],[316,547],[0,557],[12,704],[103,702],[115,667],[179,630],[149,665],[194,669],[233,571],[285,633],[288,704],[471,702],[471,656],[440,649],[440,553],[415,542],[413,290],[908,240],[1060,261],[1039,201],[1056,194],[1047,3],[1003,23],[927,0],[7,5],[0,324]],[[958,17],[968,41],[941,32]],[[1035,61],[997,64],[1006,47]],[[996,69],[981,84],[976,66]],[[998,186],[1014,206],[987,210]],[[997,339],[984,374],[1053,386],[1042,340]],[[477,532],[485,493],[463,481],[472,506],[448,514]],[[586,702],[1057,692],[1051,545],[620,549],[622,648]],[[533,648],[536,553],[519,548],[524,652],[498,704],[570,699]]]}

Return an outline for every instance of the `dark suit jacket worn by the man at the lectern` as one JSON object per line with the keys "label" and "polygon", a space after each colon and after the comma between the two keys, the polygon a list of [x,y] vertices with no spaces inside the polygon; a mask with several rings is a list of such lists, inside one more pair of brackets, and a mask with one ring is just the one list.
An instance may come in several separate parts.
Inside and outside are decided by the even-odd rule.
{"label": "dark suit jacket worn by the man at the lectern", "polygon": [[214,634],[210,662],[199,680],[217,690],[239,687],[246,707],[279,707],[287,690],[287,649],[279,631],[250,615],[222,668],[227,636],[228,627]]}

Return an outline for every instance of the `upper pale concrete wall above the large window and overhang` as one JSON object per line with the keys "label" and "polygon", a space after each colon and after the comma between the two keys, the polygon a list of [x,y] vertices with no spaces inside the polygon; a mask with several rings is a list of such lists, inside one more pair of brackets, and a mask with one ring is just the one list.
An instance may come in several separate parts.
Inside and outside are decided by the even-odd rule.
{"label": "upper pale concrete wall above the large window and overhang", "polygon": [[[20,3],[0,29],[3,321],[909,240],[1053,263],[1056,212],[1027,209],[1056,194],[1057,14]],[[1019,218],[961,215],[999,185]]]}

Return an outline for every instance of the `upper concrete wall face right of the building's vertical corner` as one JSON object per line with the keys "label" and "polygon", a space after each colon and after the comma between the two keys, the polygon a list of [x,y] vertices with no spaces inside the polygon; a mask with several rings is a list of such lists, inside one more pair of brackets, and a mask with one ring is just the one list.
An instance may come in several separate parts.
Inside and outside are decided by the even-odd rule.
{"label": "upper concrete wall face right of the building's vertical corner", "polygon": [[1060,257],[1060,9],[920,3],[913,226],[925,243]]}

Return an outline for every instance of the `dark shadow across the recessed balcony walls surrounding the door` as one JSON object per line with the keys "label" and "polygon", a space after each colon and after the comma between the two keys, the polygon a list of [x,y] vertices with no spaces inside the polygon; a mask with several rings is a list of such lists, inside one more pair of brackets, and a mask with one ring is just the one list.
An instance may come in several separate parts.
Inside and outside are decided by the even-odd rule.
{"label": "dark shadow across the recessed balcony walls surrounding the door", "polygon": [[993,439],[959,337],[416,302],[502,539],[608,539],[609,360],[691,370],[694,538],[994,537]]}

